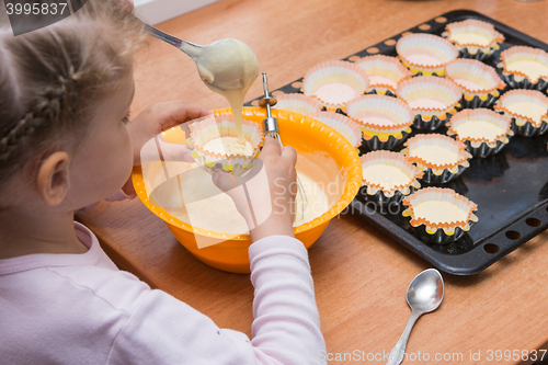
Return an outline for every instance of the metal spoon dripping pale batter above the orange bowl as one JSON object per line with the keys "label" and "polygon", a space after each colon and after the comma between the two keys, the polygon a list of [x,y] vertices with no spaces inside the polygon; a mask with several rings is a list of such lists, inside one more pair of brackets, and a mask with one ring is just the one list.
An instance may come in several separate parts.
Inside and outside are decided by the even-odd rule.
{"label": "metal spoon dripping pale batter above the orange bowl", "polygon": [[198,68],[202,81],[214,92],[225,96],[235,116],[238,139],[241,132],[243,100],[259,76],[259,60],[251,48],[238,39],[220,39],[206,46],[180,39],[145,22],[145,31],[189,55]]}

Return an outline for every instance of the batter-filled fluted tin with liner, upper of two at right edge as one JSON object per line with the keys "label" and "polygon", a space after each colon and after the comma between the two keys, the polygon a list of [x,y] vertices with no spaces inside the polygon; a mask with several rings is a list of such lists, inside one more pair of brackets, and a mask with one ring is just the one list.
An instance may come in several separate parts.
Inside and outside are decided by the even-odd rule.
{"label": "batter-filled fluted tin with liner, upper of two at right edge", "polygon": [[545,91],[548,88],[548,53],[540,48],[513,46],[501,52],[504,81],[512,89]]}

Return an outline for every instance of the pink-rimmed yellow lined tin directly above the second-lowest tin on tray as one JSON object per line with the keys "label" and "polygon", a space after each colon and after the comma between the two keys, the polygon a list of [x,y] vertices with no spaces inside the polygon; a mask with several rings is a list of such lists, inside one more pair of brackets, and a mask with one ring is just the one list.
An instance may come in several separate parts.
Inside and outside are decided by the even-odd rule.
{"label": "pink-rimmed yellow lined tin directly above the second-lowest tin on tray", "polygon": [[414,113],[399,98],[367,94],[351,100],[346,112],[363,133],[369,150],[393,149],[411,133]]}

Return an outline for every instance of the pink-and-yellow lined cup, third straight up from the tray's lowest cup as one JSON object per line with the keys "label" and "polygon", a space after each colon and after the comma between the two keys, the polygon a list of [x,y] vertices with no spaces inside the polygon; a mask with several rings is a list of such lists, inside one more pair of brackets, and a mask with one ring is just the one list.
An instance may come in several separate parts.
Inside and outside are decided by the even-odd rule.
{"label": "pink-and-yellow lined cup, third straight up from the tray's lowest cup", "polygon": [[[398,96],[403,99],[415,113],[413,126],[418,129],[435,130],[447,122],[463,98],[460,88],[453,81],[433,76],[419,76],[398,84]],[[432,106],[416,101],[431,101]]]}

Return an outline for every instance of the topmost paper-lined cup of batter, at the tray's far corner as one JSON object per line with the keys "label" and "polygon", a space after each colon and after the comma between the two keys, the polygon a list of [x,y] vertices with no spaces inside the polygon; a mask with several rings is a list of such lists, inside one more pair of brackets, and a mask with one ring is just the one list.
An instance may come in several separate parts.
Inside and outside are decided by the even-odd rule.
{"label": "topmost paper-lined cup of batter, at the tray's far corner", "polygon": [[[461,58],[473,58],[477,60],[484,60],[494,55],[500,48],[500,43],[504,42],[504,35],[496,32],[494,26],[490,23],[479,21],[476,19],[467,19],[461,22],[447,24],[446,32],[442,34],[447,41],[453,43],[459,50]],[[455,39],[460,34],[482,34],[488,38],[486,43],[473,42],[459,42]]]}

